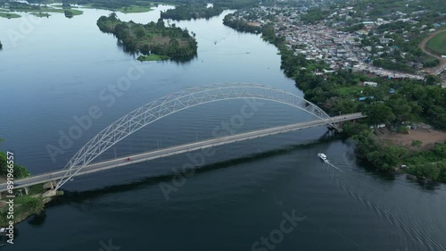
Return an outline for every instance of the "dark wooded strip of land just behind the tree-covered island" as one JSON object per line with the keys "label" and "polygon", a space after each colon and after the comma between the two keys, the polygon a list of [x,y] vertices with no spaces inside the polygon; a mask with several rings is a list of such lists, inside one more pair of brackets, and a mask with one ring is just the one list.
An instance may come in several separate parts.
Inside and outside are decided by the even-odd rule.
{"label": "dark wooded strip of land just behind the tree-covered island", "polygon": [[172,20],[191,20],[206,18],[209,19],[213,16],[217,16],[223,13],[223,8],[214,6],[208,8],[206,4],[185,4],[179,5],[175,9],[170,9],[165,12],[161,12],[162,19]]}

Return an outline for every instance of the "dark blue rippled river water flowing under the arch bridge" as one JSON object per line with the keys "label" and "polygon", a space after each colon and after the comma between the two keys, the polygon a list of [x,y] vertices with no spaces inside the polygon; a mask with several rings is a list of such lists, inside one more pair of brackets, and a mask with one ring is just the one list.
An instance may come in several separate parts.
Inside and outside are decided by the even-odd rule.
{"label": "dark blue rippled river water flowing under the arch bridge", "polygon": [[[118,13],[123,21],[157,21],[150,13]],[[72,19],[0,19],[1,150],[32,173],[61,169],[112,121],[161,96],[201,85],[249,82],[301,96],[280,71],[277,48],[259,36],[211,20],[178,21],[194,31],[198,56],[187,63],[139,63],[95,25],[110,12]],[[38,22],[38,23],[37,23]],[[174,23],[171,21],[170,23]],[[111,91],[128,71],[130,87]],[[104,98],[109,96],[109,98]],[[112,101],[111,102],[111,97]],[[212,136],[246,101],[196,106],[124,139],[97,161]],[[102,113],[65,147],[48,153],[90,107]],[[235,132],[308,121],[311,116],[262,101]],[[45,214],[16,226],[4,250],[446,250],[446,188],[369,172],[348,142],[326,128],[219,146],[185,180],[174,169],[197,153],[77,177]],[[326,153],[330,164],[317,154]],[[200,153],[199,153],[200,154]],[[178,183],[182,182],[182,183]],[[170,186],[170,187],[169,187]],[[162,188],[175,189],[166,192]],[[294,222],[288,219],[293,218]],[[282,222],[285,221],[285,225]],[[285,229],[284,229],[285,226]],[[266,239],[268,238],[268,240]]]}

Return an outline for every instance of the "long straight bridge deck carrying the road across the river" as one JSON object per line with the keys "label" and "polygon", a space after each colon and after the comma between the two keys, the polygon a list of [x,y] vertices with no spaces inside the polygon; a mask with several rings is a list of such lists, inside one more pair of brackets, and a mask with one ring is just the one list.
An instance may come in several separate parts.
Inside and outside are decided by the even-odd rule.
{"label": "long straight bridge deck carrying the road across the river", "polygon": [[[342,122],[342,121],[357,120],[357,119],[364,118],[364,117],[365,117],[365,115],[362,115],[361,113],[351,113],[351,114],[345,114],[345,115],[332,117],[332,120],[334,122]],[[167,157],[170,155],[179,155],[179,154],[183,154],[183,153],[187,153],[187,152],[191,152],[191,151],[200,150],[203,148],[209,148],[209,147],[213,147],[213,146],[222,146],[222,145],[226,145],[226,144],[230,144],[230,143],[234,143],[234,142],[238,142],[238,141],[244,141],[244,140],[248,140],[248,139],[252,139],[252,138],[262,138],[262,137],[280,134],[280,133],[284,133],[284,132],[289,132],[289,131],[293,131],[293,130],[303,130],[303,129],[322,126],[322,125],[326,125],[326,121],[322,121],[322,120],[306,121],[306,122],[299,122],[299,123],[294,123],[294,124],[285,125],[285,126],[274,127],[274,128],[270,128],[270,129],[254,130],[254,131],[250,131],[250,132],[239,133],[239,134],[230,135],[230,136],[226,136],[226,137],[222,137],[222,138],[211,138],[211,139],[206,139],[206,140],[189,143],[189,144],[185,144],[185,145],[180,145],[180,146],[171,146],[168,148],[162,148],[162,149],[145,152],[145,153],[138,154],[138,155],[123,156],[123,157],[120,157],[117,159],[103,161],[100,163],[91,163],[91,164],[88,164],[87,166],[85,166],[81,171],[79,171],[76,174],[76,176],[93,173],[93,172],[101,172],[104,170],[108,170],[108,169],[112,169],[112,168],[116,168],[116,167],[120,167],[120,166],[125,166],[125,165],[129,165],[129,164],[133,164],[133,163],[142,163],[145,161],[162,158],[162,157]],[[130,161],[126,161],[127,158],[130,158]],[[73,168],[72,172],[74,173],[77,170],[78,170],[77,168]],[[14,180],[14,182],[20,183],[19,186],[14,186],[14,188],[29,187],[32,185],[48,182],[50,180],[61,180],[63,175],[65,174],[65,172],[67,172],[67,171],[61,170],[61,171],[56,171],[56,172],[48,172],[48,173],[32,176],[30,178],[23,179],[23,180]],[[0,184],[0,192],[4,192],[6,190],[7,190],[6,183]]]}

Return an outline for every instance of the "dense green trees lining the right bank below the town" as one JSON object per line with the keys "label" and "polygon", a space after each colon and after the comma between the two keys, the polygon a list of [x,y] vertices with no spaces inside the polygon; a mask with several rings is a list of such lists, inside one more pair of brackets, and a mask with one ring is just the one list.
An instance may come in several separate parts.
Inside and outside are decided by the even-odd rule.
{"label": "dense green trees lining the right bank below the town", "polygon": [[[232,16],[225,17],[225,25],[238,31],[260,33],[264,40],[277,46],[281,68],[287,77],[295,80],[307,100],[328,114],[368,115],[366,119],[343,124],[342,137],[355,142],[360,159],[382,172],[407,172],[418,180],[446,182],[444,142],[435,143],[432,149],[409,151],[408,147],[377,139],[389,131],[408,134],[418,122],[446,130],[446,89],[438,85],[441,79],[432,75],[424,81],[383,79],[348,70],[324,73],[331,70],[325,62],[293,54],[293,48],[286,46],[284,37],[276,35],[272,24],[253,26],[247,21],[235,21]],[[378,85],[375,88],[361,85],[365,81]],[[418,141],[414,140],[413,146],[422,144]]]}

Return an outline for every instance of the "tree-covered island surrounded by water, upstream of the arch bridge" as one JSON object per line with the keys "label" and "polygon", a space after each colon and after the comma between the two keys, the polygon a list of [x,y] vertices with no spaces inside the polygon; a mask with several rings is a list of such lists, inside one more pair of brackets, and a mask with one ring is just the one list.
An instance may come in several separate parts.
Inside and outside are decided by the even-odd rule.
{"label": "tree-covered island surrounded by water, upstream of the arch bridge", "polygon": [[97,26],[120,39],[128,52],[144,54],[138,58],[141,61],[183,59],[197,53],[197,42],[187,29],[175,24],[167,27],[162,19],[156,23],[139,24],[120,21],[116,13],[111,13],[108,17],[100,17]]}

